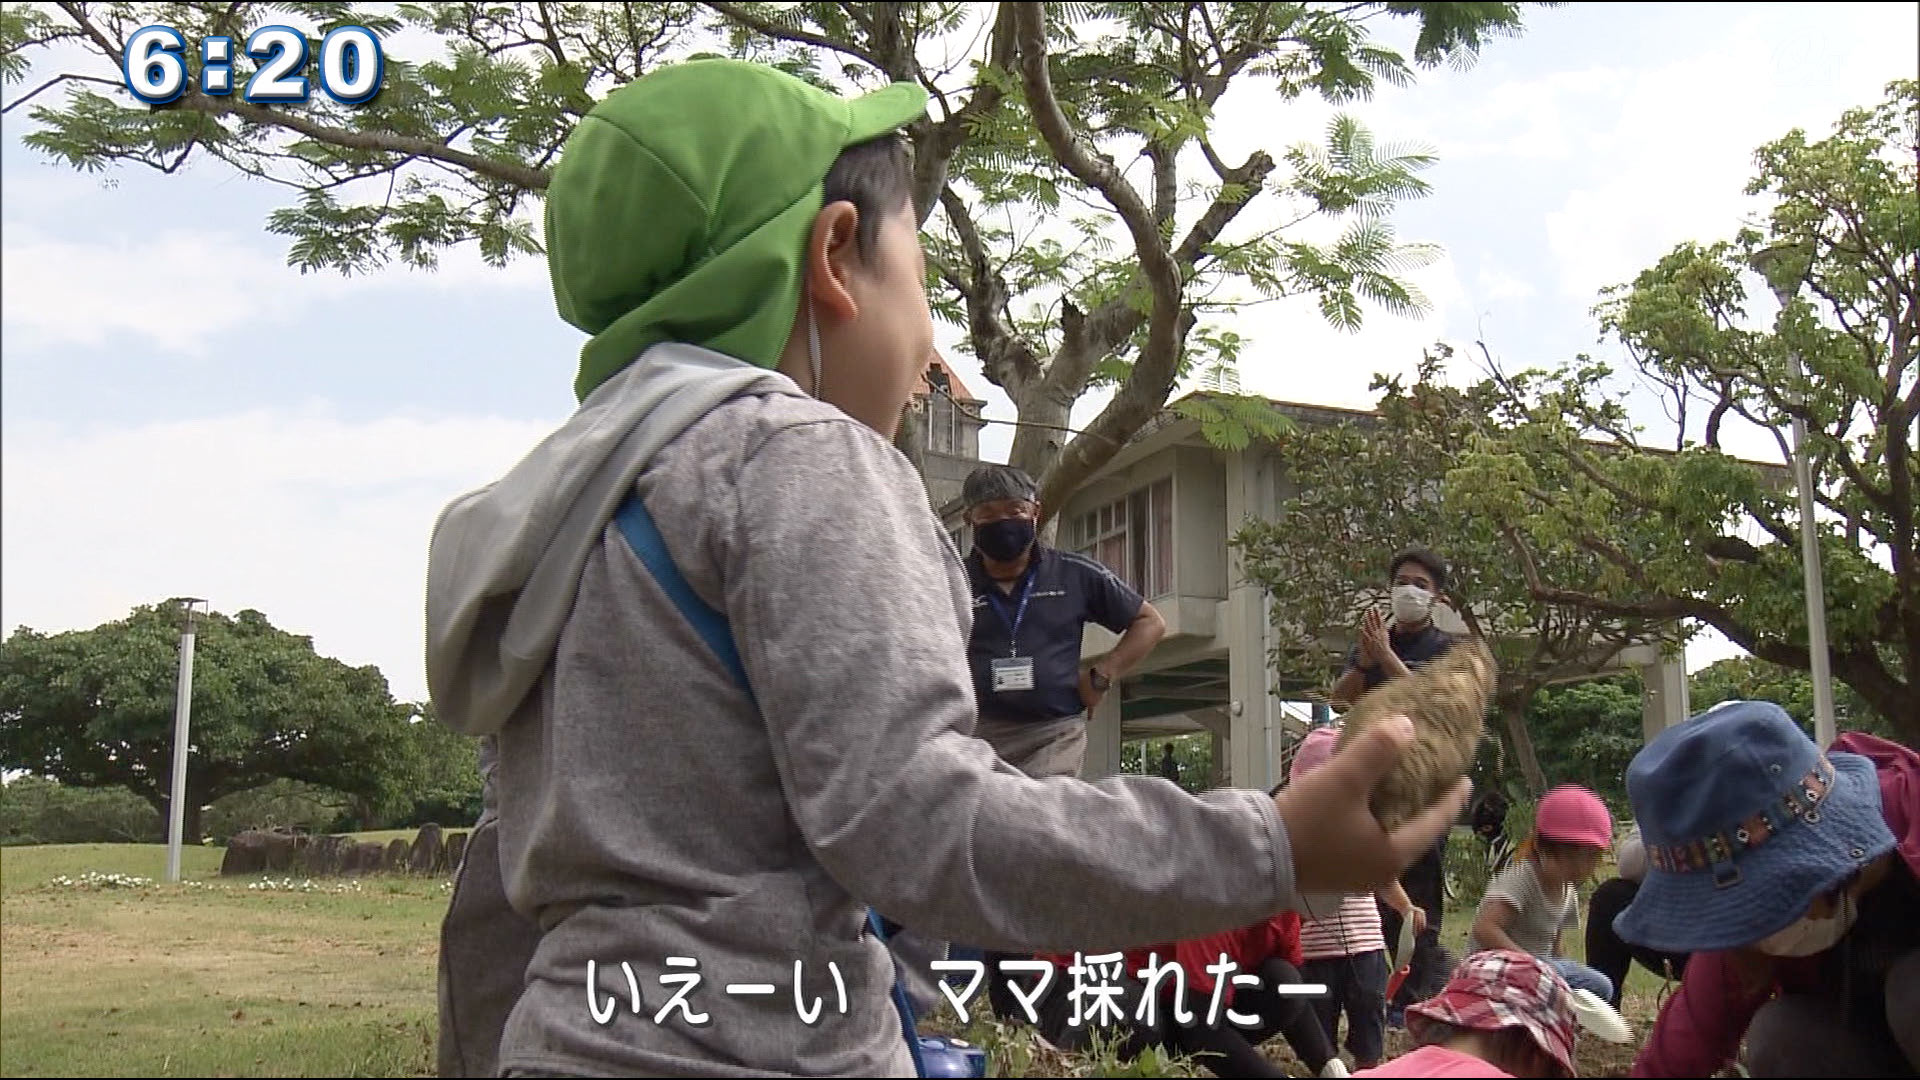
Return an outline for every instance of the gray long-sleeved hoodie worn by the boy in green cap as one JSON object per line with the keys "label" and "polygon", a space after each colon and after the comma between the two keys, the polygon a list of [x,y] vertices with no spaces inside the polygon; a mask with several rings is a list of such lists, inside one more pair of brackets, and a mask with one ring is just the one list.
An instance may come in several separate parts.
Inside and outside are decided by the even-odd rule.
{"label": "gray long-sleeved hoodie worn by the boy in green cap", "polygon": [[[612,525],[628,492],[753,698]],[[649,350],[447,507],[426,613],[438,715],[495,740],[507,896],[545,928],[501,1068],[910,1076],[866,905],[1071,953],[1296,901],[1261,792],[1031,780],[972,738],[968,578],[920,479],[772,371]]]}

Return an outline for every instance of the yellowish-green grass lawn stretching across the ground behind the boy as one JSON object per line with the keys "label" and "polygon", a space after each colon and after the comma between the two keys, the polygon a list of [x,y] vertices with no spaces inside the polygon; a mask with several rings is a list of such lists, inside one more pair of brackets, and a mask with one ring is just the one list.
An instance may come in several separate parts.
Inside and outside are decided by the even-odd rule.
{"label": "yellowish-green grass lawn stretching across the ground behind the boy", "polygon": [[[411,830],[363,838],[394,836]],[[169,886],[165,846],[0,847],[0,1076],[432,1076],[447,882],[221,878],[221,855],[184,847]],[[1471,920],[1448,911],[1442,940],[1459,949]],[[1578,940],[1565,947],[1580,955]],[[1659,988],[1645,970],[1628,976],[1636,1034]],[[995,1074],[1206,1074],[968,1034],[989,1045]],[[1290,1061],[1279,1040],[1265,1049]],[[1404,1049],[1392,1032],[1390,1051]],[[1584,1076],[1624,1076],[1630,1051],[1582,1040],[1580,1059]]]}

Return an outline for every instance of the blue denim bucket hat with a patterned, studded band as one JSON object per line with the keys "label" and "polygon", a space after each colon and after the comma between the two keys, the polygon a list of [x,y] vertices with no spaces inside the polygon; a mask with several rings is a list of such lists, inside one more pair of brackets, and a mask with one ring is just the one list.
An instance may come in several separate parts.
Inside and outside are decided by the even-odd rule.
{"label": "blue denim bucket hat with a patterned, studded band", "polygon": [[1667,728],[1626,767],[1647,876],[1613,920],[1668,953],[1736,949],[1893,849],[1874,763],[1822,753],[1772,701]]}

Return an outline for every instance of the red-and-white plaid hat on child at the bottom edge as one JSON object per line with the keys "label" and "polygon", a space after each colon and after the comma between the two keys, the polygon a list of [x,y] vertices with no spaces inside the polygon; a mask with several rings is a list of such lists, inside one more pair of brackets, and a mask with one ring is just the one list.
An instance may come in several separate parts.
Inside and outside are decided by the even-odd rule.
{"label": "red-and-white plaid hat on child at the bottom edge", "polygon": [[1461,961],[1440,994],[1407,1005],[1407,1032],[1415,1040],[1425,1042],[1427,1026],[1436,1022],[1476,1032],[1524,1028],[1567,1076],[1576,1074],[1572,990],[1532,953],[1486,949]]}

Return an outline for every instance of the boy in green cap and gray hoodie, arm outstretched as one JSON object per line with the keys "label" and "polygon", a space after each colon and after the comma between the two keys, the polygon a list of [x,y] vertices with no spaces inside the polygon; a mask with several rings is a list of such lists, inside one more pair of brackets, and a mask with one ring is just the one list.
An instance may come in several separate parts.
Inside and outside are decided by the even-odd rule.
{"label": "boy in green cap and gray hoodie, arm outstretched", "polygon": [[1006,951],[1192,938],[1384,884],[1459,811],[1367,813],[1411,724],[1279,798],[1031,780],[972,738],[966,571],[891,444],[933,348],[895,135],[924,110],[699,60],[555,169],[580,409],[428,559],[434,705],[490,740],[540,926],[505,1074],[912,1074],[866,905]]}

